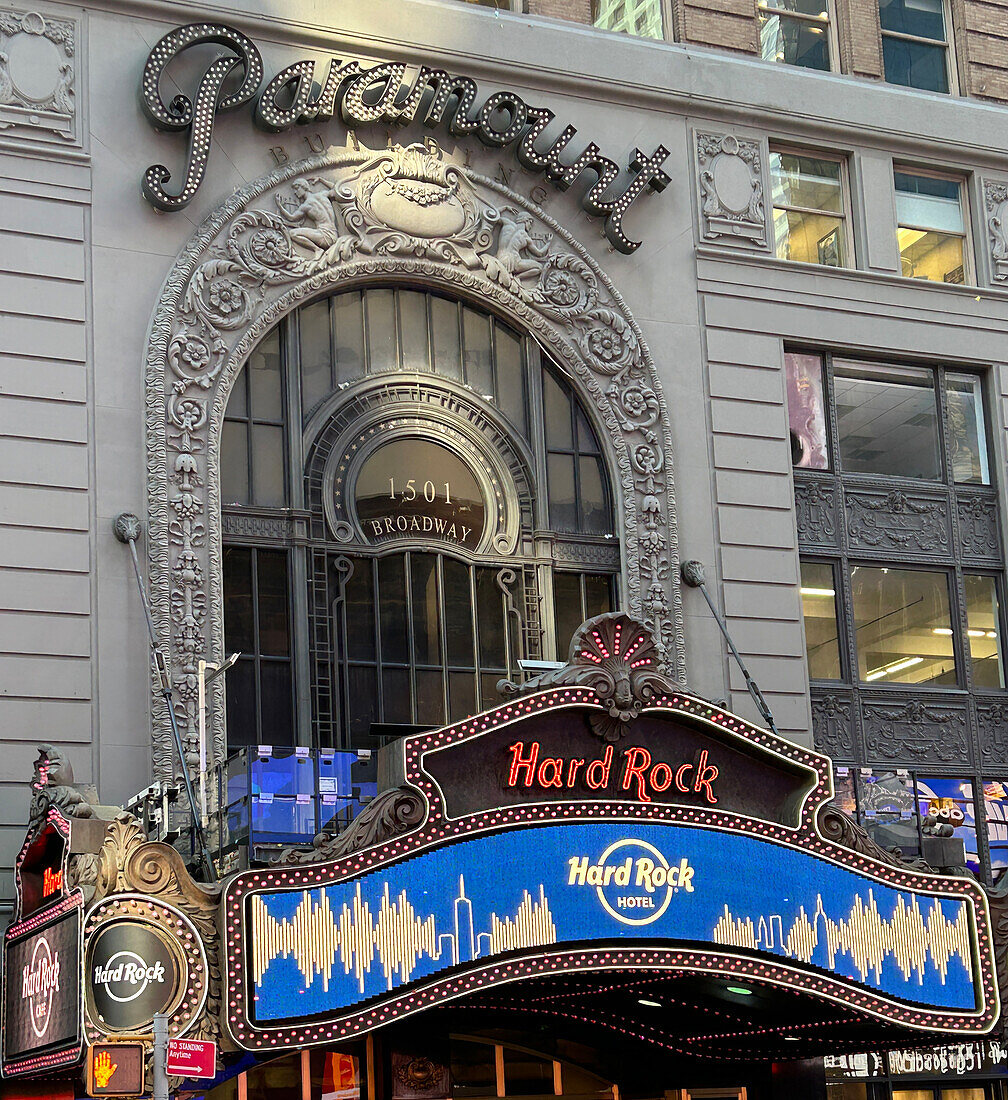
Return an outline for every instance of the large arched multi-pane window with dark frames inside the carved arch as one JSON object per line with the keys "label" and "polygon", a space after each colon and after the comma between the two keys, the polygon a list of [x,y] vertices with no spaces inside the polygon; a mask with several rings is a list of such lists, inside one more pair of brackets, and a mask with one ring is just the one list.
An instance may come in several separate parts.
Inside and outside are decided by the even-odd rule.
{"label": "large arched multi-pane window with dark frames inside the carved arch", "polygon": [[324,298],[221,436],[231,746],[373,747],[498,702],[618,601],[609,471],[539,345],[412,287]]}

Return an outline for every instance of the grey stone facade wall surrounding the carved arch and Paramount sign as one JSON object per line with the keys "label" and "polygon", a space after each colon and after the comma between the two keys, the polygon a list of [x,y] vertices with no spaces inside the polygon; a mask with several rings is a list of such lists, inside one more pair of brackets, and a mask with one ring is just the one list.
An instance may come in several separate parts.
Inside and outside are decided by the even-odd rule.
{"label": "grey stone facade wall surrounding the carved arch and Paramount sign", "polygon": [[[154,542],[141,557],[154,563],[155,620],[165,639],[174,639],[167,572],[177,562],[169,558],[172,519],[158,509],[168,490],[165,452],[158,450],[165,444],[156,439],[171,425],[164,376],[160,405],[152,384],[158,341],[168,336],[158,327],[167,323],[165,315],[157,311],[178,289],[165,280],[185,267],[205,219],[210,219],[205,234],[226,234],[242,195],[286,186],[302,170],[322,170],[355,154],[338,122],[267,134],[242,108],[218,119],[207,177],[191,205],[155,213],[141,197],[141,176],[149,165],[166,164],[175,184],[185,143],[147,124],[138,85],[151,46],[184,22],[173,8],[140,0],[0,8],[0,50],[9,53],[19,36],[44,42],[39,56],[52,76],[51,89],[28,89],[34,99],[0,92],[2,898],[12,895],[10,868],[28,816],[24,781],[39,741],[63,748],[77,779],[96,783],[105,802],[129,796],[168,768],[163,715],[152,704],[143,615],[128,556],[111,530],[123,510],[150,522]],[[978,100],[775,67],[743,54],[633,40],[451,0],[329,6],[328,25],[320,24],[317,7],[302,0],[265,8],[239,0],[226,15],[212,6],[199,11],[200,18],[252,37],[267,78],[303,56],[441,66],[472,76],[486,92],[515,89],[529,102],[549,106],[571,120],[579,139],[593,140],[618,158],[635,146],[650,151],[660,143],[671,151],[664,166],[669,186],[638,199],[627,216],[629,235],[644,243],[624,255],[610,250],[601,222],[582,212],[579,185],[558,194],[522,169],[510,150],[487,151],[474,136],[436,135],[484,201],[495,195],[526,206],[558,249],[609,280],[605,308],[618,315],[626,326],[621,331],[639,345],[634,354],[648,364],[661,409],[654,433],[662,452],[661,487],[635,485],[642,473],[632,469],[636,444],[615,414],[610,459],[626,493],[620,515],[640,517],[625,527],[631,560],[624,562],[624,597],[642,606],[644,496],[666,494],[659,535],[671,549],[659,563],[665,573],[659,592],[668,602],[665,620],[681,631],[681,647],[672,646],[673,671],[693,691],[726,698],[745,717],[757,718],[699,593],[678,591],[678,560],[697,558],[706,564],[710,588],[781,733],[811,744],[814,718],[834,732],[829,737],[840,755],[855,736],[876,754],[874,746],[886,736],[883,719],[892,716],[866,713],[855,734],[837,718],[845,707],[850,712],[850,700],[819,701],[813,715],[798,591],[799,537],[813,504],[828,517],[812,525],[817,544],[829,544],[844,514],[835,495],[826,492],[811,502],[807,488],[796,512],[784,345],[989,371],[995,482],[1000,515],[1008,515],[1002,270],[1008,261],[1000,227],[1008,113]],[[728,19],[731,11],[725,8],[723,15]],[[855,69],[868,72],[873,64],[865,56]],[[45,73],[39,82],[46,82]],[[195,87],[199,74],[194,68],[187,75]],[[418,127],[357,133],[368,148],[421,138]],[[856,268],[808,267],[774,256],[770,141],[848,155]],[[716,173],[709,176],[719,156],[737,162],[746,174],[744,204],[719,184]],[[309,166],[298,166],[309,157],[315,158]],[[894,157],[967,177],[976,286],[900,277]],[[739,178],[734,168],[722,175]],[[232,208],[226,209],[229,201]],[[339,285],[353,277],[351,266],[328,272],[300,293]],[[396,274],[393,266],[384,271]],[[399,274],[424,277],[421,265],[406,265]],[[274,297],[280,304],[269,316],[275,319],[293,299],[284,304]],[[506,308],[518,316],[517,305]],[[545,344],[552,339],[558,348],[565,339],[577,344],[577,334],[561,333],[562,324],[537,328],[530,307],[524,320]],[[252,339],[254,333],[241,348],[238,340],[229,344],[229,354],[238,348],[237,358],[217,385],[229,384]],[[566,356],[569,364],[573,359],[573,352]],[[585,403],[602,410],[606,399],[598,377],[593,381],[588,367],[580,375],[571,369]],[[221,408],[226,396],[226,388],[216,394]],[[196,462],[215,459],[211,447]],[[219,508],[215,477],[205,480],[211,488],[204,494],[199,540],[212,549],[220,544]],[[847,508],[868,504],[866,495],[848,499]],[[929,547],[941,552],[952,519],[947,509],[935,508],[922,536],[925,557]],[[989,528],[983,516],[976,519],[978,543],[1004,544],[1005,532]],[[207,551],[205,564],[211,573],[201,591],[210,607],[199,629],[213,660],[221,647],[220,578],[212,575],[219,556]],[[1006,739],[997,705],[996,698],[983,706],[963,700],[945,708],[952,715],[947,722],[966,723],[971,738],[989,727],[989,740],[977,749],[985,759]],[[973,717],[963,717],[967,712]],[[946,752],[947,741],[943,746]],[[876,755],[886,757],[883,750]]]}

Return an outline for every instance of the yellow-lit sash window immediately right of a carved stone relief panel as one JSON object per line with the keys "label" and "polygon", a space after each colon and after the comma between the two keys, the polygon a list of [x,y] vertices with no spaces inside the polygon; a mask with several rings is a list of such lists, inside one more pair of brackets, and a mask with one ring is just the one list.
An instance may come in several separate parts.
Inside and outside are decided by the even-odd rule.
{"label": "yellow-lit sash window immediately right of a carved stone relief panel", "polygon": [[774,240],[780,260],[847,266],[844,167],[839,157],[770,148]]}

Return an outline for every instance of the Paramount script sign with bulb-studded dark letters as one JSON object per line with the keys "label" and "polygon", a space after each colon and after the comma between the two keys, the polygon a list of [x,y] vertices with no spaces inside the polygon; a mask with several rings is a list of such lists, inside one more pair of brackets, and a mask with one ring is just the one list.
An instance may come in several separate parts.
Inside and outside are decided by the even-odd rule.
{"label": "Paramount script sign with bulb-studded dark letters", "polygon": [[[179,94],[166,103],[161,95],[165,69],[184,51],[207,44],[223,46],[227,53],[207,67],[194,100]],[[255,123],[274,133],[331,119],[342,120],[350,129],[420,121],[429,128],[443,125],[456,138],[473,134],[490,148],[513,147],[524,168],[541,173],[560,191],[588,174],[590,186],[581,206],[587,213],[605,219],[610,243],[625,253],[640,244],[623,232],[627,209],[646,189],[660,191],[670,182],[661,168],[669,155],[664,145],[650,156],[634,150],[628,178],[621,185],[620,165],[603,156],[594,142],[574,152],[574,127],[565,125],[552,140],[544,139],[556,118],[548,107],[526,103],[514,91],[494,91],[484,99],[475,80],[445,69],[399,63],[362,67],[360,62],[336,57],[317,66],[305,58],[277,73],[260,94],[263,75],[255,44],[221,24],[180,26],[154,46],[143,70],[141,103],[157,130],[188,131],[189,156],[185,179],[175,194],[165,188],[172,175],[163,164],[147,168],[142,187],[152,206],[180,210],[193,199],[207,169],[217,116],[249,102]]]}

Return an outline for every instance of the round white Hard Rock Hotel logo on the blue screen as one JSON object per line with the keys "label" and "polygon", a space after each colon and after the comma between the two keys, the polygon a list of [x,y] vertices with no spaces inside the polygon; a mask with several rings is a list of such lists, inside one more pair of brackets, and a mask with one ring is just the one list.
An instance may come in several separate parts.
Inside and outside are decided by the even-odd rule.
{"label": "round white Hard Rock Hotel logo on the blue screen", "polygon": [[671,865],[646,840],[614,840],[591,862],[571,856],[567,884],[594,887],[605,911],[621,924],[654,924],[668,909],[672,895],[693,892],[693,868],[683,857]]}

